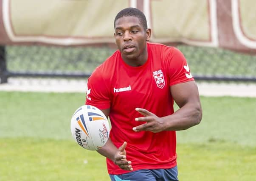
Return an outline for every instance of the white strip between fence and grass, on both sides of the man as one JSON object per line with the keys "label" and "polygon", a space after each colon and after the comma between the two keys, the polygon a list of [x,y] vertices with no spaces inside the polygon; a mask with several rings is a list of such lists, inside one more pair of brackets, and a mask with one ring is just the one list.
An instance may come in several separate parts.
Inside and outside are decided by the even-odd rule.
{"label": "white strip between fence and grass, on both sides of the man", "polygon": [[[256,97],[256,84],[197,82],[203,96]],[[8,78],[0,91],[22,92],[86,92],[87,80],[53,78]]]}

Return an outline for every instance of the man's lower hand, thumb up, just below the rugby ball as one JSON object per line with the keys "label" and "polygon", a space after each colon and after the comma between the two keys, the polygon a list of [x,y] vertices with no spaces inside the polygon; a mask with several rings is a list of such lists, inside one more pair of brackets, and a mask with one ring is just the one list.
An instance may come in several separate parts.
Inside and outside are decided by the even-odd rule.
{"label": "man's lower hand, thumb up, just below the rugby ball", "polygon": [[127,142],[124,142],[123,145],[121,145],[118,150],[115,152],[114,160],[113,162],[118,165],[123,170],[130,170],[132,171],[132,162],[128,161],[126,159],[126,148]]}

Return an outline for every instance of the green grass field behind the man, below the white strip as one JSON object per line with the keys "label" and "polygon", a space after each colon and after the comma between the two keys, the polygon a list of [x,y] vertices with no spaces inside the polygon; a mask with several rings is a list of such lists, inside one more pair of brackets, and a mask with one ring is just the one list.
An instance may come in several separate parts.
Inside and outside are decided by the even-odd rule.
{"label": "green grass field behind the man, below the white strip", "polygon": [[[82,93],[0,92],[0,181],[109,181],[104,157],[72,139]],[[177,132],[180,181],[256,178],[256,98],[201,97],[200,125]]]}

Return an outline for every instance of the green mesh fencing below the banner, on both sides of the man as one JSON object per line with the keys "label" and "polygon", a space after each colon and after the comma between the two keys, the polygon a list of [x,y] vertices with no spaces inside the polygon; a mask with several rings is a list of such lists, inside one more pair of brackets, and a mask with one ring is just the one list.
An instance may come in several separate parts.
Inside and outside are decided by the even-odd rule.
{"label": "green mesh fencing below the banner, on both sides of the man", "polygon": [[[178,45],[198,80],[256,81],[256,55]],[[6,46],[7,75],[84,77],[115,49],[107,47]],[[3,55],[0,55],[3,57]],[[2,71],[3,74],[3,71]]]}

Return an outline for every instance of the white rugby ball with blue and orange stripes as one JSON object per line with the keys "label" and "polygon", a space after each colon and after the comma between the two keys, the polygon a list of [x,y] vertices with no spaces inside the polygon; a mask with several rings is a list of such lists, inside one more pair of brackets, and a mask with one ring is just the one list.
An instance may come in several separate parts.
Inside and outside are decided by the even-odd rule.
{"label": "white rugby ball with blue and orange stripes", "polygon": [[105,114],[95,106],[83,105],[70,122],[73,139],[87,150],[98,150],[109,138],[110,125]]}

